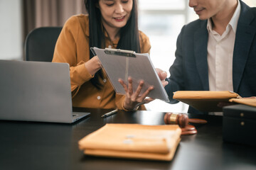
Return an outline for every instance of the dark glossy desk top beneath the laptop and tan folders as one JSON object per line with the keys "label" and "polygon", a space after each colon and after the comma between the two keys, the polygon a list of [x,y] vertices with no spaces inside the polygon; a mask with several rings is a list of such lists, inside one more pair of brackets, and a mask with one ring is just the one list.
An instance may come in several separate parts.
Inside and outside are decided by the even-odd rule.
{"label": "dark glossy desk top beneath the laptop and tan folders", "polygon": [[182,136],[171,162],[85,156],[78,140],[106,123],[164,124],[164,113],[85,111],[90,118],[72,125],[0,121],[0,169],[256,169],[256,148],[223,142],[222,117],[210,115],[197,135]]}

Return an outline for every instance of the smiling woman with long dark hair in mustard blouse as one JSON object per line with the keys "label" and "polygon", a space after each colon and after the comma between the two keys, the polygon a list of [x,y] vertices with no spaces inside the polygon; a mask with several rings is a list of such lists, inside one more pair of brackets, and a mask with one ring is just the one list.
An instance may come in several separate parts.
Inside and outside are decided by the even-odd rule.
{"label": "smiling woman with long dark hair in mustard blouse", "polygon": [[[137,0],[85,0],[88,15],[72,16],[66,21],[55,45],[53,62],[70,64],[73,106],[83,108],[118,108],[133,111],[153,98],[132,91],[132,79],[124,86],[126,95],[116,94],[97,56],[90,47],[112,47],[135,52],[149,52],[149,38],[138,30]],[[142,107],[142,106],[140,106]]]}

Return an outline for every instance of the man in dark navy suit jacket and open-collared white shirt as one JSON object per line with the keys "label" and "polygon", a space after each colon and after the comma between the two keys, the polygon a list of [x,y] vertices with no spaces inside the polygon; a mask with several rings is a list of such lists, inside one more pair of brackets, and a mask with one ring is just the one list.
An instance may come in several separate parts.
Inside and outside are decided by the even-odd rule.
{"label": "man in dark navy suit jacket and open-collared white shirt", "polygon": [[[178,102],[172,98],[175,91],[256,96],[256,8],[238,0],[190,0],[189,6],[199,19],[178,35],[165,86],[170,103]],[[188,113],[201,112],[190,107]]]}

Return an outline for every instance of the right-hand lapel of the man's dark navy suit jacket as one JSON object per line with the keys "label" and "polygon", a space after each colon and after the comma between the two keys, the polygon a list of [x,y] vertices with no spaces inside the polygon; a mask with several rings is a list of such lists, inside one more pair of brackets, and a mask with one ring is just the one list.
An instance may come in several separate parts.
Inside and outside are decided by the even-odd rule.
{"label": "right-hand lapel of the man's dark navy suit jacket", "polygon": [[250,53],[252,40],[255,37],[256,32],[255,27],[250,26],[254,16],[249,10],[250,8],[241,2],[241,12],[235,35],[233,53],[233,88],[235,92],[238,92],[247,57]]}

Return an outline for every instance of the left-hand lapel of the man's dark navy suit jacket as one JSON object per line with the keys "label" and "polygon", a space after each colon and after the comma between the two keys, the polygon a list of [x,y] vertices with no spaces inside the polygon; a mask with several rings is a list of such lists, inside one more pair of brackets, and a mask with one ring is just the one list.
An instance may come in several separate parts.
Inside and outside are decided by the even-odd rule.
{"label": "left-hand lapel of the man's dark navy suit jacket", "polygon": [[207,62],[207,43],[208,30],[206,29],[207,21],[202,21],[201,28],[194,33],[194,55],[196,58],[196,68],[203,84],[203,90],[209,90],[208,81],[208,62]]}

